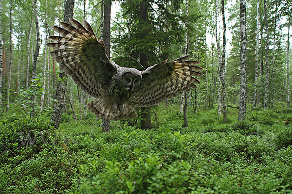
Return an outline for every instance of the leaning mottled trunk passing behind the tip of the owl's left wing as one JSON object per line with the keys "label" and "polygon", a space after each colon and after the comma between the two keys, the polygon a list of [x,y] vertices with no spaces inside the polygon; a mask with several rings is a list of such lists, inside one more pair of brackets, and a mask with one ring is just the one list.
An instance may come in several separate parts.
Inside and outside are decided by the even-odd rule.
{"label": "leaning mottled trunk passing behind the tip of the owl's left wing", "polygon": [[[74,0],[65,0],[64,22],[69,23],[69,18],[73,17],[73,9],[74,9]],[[59,78],[61,79],[61,81],[58,81],[58,84],[57,84],[56,94],[54,97],[56,102],[53,105],[53,113],[51,117],[51,124],[54,125],[54,129],[59,128],[59,124],[60,124],[61,116],[62,116],[65,89],[67,85],[67,75],[62,69],[60,69]]]}

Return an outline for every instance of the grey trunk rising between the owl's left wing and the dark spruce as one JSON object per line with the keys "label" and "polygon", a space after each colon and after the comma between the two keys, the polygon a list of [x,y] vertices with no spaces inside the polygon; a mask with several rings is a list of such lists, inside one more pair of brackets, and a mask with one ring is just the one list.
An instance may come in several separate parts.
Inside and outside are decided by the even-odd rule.
{"label": "grey trunk rising between the owl's left wing and the dark spruce", "polygon": [[[104,25],[103,25],[103,41],[106,47],[106,53],[110,58],[110,12],[111,12],[111,0],[104,1]],[[110,132],[110,119],[102,118],[102,131]]]}

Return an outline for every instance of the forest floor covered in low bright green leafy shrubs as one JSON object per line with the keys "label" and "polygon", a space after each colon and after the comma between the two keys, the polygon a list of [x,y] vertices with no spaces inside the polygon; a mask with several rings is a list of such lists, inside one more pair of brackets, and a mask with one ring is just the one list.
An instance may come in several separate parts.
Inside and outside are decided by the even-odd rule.
{"label": "forest floor covered in low bright green leafy shrubs", "polygon": [[112,122],[103,133],[93,114],[81,122],[63,114],[58,130],[49,113],[37,122],[0,118],[2,194],[286,194],[292,193],[291,109],[249,110],[237,122],[228,109],[188,112],[153,108],[154,129],[139,120]]}

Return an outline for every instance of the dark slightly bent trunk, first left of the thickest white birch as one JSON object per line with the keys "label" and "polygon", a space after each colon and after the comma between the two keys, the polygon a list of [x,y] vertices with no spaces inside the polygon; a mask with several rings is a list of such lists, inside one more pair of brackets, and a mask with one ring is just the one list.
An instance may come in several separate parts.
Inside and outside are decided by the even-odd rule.
{"label": "dark slightly bent trunk, first left of the thickest white birch", "polygon": [[222,12],[222,21],[223,21],[223,49],[222,49],[222,62],[219,68],[219,79],[221,82],[221,107],[223,114],[223,122],[227,122],[227,110],[226,110],[226,93],[225,93],[225,47],[226,47],[226,23],[225,23],[225,8],[224,8],[224,0],[221,0],[221,12]]}

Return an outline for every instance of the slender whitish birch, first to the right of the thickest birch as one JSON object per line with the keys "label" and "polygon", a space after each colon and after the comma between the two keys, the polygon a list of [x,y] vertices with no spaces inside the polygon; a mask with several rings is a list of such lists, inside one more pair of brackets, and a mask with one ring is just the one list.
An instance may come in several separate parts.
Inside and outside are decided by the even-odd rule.
{"label": "slender whitish birch, first to the right of the thickest birch", "polygon": [[260,66],[259,64],[259,0],[257,0],[256,3],[256,70],[255,70],[255,88],[254,88],[254,97],[253,97],[253,109],[255,109],[258,105],[257,97],[258,97],[258,89],[257,89],[257,84],[258,84],[258,67]]}

